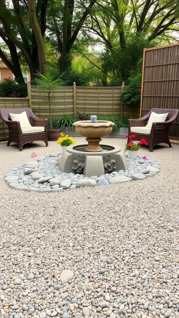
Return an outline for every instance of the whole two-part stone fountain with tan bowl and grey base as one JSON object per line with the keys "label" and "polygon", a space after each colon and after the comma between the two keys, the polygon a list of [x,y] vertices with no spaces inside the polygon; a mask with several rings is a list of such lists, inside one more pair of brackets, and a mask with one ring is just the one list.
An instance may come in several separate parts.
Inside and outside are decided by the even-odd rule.
{"label": "whole two-part stone fountain with tan bowl and grey base", "polygon": [[116,145],[99,144],[101,137],[108,135],[114,125],[111,121],[76,121],[76,132],[86,138],[88,144],[68,146],[59,162],[59,169],[66,173],[79,173],[87,177],[128,169],[127,159]]}

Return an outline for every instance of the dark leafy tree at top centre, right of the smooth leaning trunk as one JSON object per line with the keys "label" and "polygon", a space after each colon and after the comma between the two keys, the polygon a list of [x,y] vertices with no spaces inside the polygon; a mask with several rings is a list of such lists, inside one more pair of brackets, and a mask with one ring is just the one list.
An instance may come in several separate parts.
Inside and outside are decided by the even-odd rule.
{"label": "dark leafy tree at top centre, right of the smooth leaning trunk", "polygon": [[59,53],[59,68],[62,72],[67,71],[71,65],[73,55],[70,52],[96,1],[54,0],[50,3],[47,11],[47,38]]}

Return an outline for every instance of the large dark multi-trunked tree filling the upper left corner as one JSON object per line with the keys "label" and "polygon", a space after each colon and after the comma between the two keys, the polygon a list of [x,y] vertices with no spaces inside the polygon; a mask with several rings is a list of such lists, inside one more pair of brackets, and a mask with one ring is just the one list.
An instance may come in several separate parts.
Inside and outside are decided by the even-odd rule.
{"label": "large dark multi-trunked tree filling the upper left corner", "polygon": [[0,47],[0,57],[14,73],[18,82],[23,82],[20,70],[21,51],[29,67],[31,79],[37,70],[46,73],[46,58],[43,37],[46,31],[46,10],[48,0],[19,1],[0,0],[0,37],[8,46],[11,59]]}

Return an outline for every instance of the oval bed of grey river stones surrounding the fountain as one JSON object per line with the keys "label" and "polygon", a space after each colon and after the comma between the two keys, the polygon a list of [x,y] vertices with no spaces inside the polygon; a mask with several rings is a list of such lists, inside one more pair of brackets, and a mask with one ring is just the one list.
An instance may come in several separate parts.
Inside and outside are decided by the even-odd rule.
{"label": "oval bed of grey river stones surrounding the fountain", "polygon": [[[27,160],[7,171],[5,181],[13,189],[35,192],[60,192],[81,187],[95,187],[133,180],[143,180],[156,175],[160,164],[155,159],[128,159],[127,170],[113,171],[102,176],[85,177],[82,174],[65,173],[58,169],[62,153],[41,156]],[[127,157],[127,155],[125,155]]]}

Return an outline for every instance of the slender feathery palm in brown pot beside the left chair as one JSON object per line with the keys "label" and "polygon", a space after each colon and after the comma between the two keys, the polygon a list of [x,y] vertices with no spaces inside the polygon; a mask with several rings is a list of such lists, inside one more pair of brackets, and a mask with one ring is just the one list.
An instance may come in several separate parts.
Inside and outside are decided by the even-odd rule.
{"label": "slender feathery palm in brown pot beside the left chair", "polygon": [[54,96],[54,92],[55,90],[59,89],[61,86],[65,86],[66,81],[61,79],[61,76],[58,79],[54,79],[54,77],[50,75],[49,72],[47,72],[46,75],[42,75],[38,73],[37,78],[35,78],[32,82],[34,85],[38,86],[40,95],[44,94],[45,96],[45,99],[42,102],[42,105],[49,107],[50,129],[47,129],[47,139],[49,141],[56,141],[59,138],[60,129],[53,128],[52,126],[52,110],[53,108],[56,108],[56,104],[55,104],[56,97]]}

